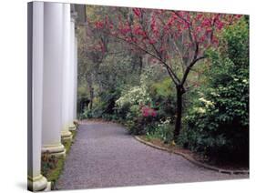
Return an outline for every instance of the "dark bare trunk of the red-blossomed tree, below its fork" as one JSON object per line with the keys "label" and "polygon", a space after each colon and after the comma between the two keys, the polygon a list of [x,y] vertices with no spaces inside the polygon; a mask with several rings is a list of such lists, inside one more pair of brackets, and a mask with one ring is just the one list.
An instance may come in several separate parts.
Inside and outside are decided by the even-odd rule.
{"label": "dark bare trunk of the red-blossomed tree, below its fork", "polygon": [[182,116],[182,95],[184,94],[183,86],[176,86],[177,92],[177,105],[176,105],[176,120],[174,129],[174,140],[179,137],[179,131],[181,128],[181,116]]}

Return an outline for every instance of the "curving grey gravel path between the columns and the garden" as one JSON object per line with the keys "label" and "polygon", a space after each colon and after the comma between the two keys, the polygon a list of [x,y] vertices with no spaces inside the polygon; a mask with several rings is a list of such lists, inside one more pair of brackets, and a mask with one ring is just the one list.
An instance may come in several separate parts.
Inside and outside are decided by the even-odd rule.
{"label": "curving grey gravel path between the columns and the garden", "polygon": [[249,178],[221,174],[148,147],[113,123],[79,126],[57,189],[107,188]]}

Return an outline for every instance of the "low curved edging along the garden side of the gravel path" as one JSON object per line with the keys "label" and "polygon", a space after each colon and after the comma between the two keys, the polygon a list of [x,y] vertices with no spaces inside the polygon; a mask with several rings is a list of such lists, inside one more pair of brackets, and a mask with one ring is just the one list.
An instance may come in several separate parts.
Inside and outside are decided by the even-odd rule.
{"label": "low curved edging along the garden side of the gravel path", "polygon": [[176,151],[176,150],[170,150],[167,147],[159,147],[158,145],[155,145],[155,144],[152,144],[151,142],[145,141],[145,140],[143,140],[142,138],[140,138],[138,136],[133,136],[133,137],[135,139],[137,139],[140,143],[148,145],[149,147],[154,147],[154,148],[157,148],[159,150],[167,151],[169,153],[174,153],[178,156],[184,157],[189,162],[191,162],[192,164],[194,164],[194,165],[196,165],[200,168],[207,168],[207,169],[219,172],[219,173],[230,174],[230,175],[232,175],[232,174],[248,174],[249,175],[250,174],[249,170],[230,170],[230,169],[222,169],[222,168],[213,167],[213,166],[210,166],[208,164],[201,163],[200,161],[195,160],[193,157],[190,157],[187,154],[181,153],[181,152]]}

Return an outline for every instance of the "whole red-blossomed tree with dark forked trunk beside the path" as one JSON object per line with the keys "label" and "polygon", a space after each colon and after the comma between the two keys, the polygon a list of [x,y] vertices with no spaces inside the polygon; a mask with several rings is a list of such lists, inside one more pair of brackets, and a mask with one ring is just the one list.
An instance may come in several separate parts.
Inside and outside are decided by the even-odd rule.
{"label": "whole red-blossomed tree with dark forked trunk beside the path", "polygon": [[98,20],[95,27],[127,43],[134,52],[147,54],[167,70],[177,91],[176,139],[181,127],[182,96],[188,90],[186,81],[191,68],[206,58],[208,48],[218,46],[222,28],[241,15],[112,8],[111,15]]}

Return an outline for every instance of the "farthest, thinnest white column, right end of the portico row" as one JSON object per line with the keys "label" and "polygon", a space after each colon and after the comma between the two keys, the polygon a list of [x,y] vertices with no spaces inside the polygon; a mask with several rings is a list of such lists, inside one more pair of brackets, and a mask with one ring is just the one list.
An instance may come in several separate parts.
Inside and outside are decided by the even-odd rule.
{"label": "farthest, thinnest white column, right end of the portico row", "polygon": [[74,125],[74,104],[75,104],[75,18],[72,15],[70,20],[70,79],[69,79],[69,130],[76,130]]}

